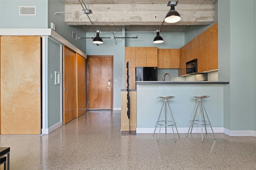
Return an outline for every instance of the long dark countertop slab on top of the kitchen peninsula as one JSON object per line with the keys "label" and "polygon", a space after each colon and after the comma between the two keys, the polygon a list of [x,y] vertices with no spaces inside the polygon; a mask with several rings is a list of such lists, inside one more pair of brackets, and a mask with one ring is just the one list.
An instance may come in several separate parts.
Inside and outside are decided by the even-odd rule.
{"label": "long dark countertop slab on top of the kitchen peninsula", "polygon": [[229,81],[136,81],[136,84],[229,84]]}

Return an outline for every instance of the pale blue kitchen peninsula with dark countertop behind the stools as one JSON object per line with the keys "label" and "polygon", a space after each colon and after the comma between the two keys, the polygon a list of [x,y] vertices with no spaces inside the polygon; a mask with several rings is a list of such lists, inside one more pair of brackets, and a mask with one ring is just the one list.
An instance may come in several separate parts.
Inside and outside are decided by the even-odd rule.
{"label": "pale blue kitchen peninsula with dark countertop behind the stools", "polygon": [[[223,132],[223,88],[228,81],[143,81],[136,82],[137,128],[136,133],[153,133],[162,107],[158,96],[175,96],[168,100],[179,133],[187,133],[197,100],[193,96],[210,96],[204,106],[214,132]],[[200,129],[198,129],[200,130]],[[171,128],[168,129],[171,132]],[[167,131],[167,132],[168,132]],[[193,129],[196,132],[197,128]]]}

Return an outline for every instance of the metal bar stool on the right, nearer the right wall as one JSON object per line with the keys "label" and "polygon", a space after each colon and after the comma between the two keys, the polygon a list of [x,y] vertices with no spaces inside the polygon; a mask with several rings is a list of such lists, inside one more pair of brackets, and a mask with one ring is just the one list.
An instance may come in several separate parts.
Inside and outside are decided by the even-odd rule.
{"label": "metal bar stool on the right, nearer the right wall", "polygon": [[[193,125],[196,124],[196,125],[201,125],[201,134],[202,134],[202,142],[203,142],[203,126],[205,127],[205,132],[206,132],[206,135],[207,135],[207,131],[206,131],[206,125],[210,125],[211,129],[212,129],[212,125],[211,125],[211,122],[209,120],[209,117],[206,113],[206,109],[204,107],[204,104],[203,104],[203,101],[202,99],[206,99],[206,98],[209,98],[210,96],[194,96],[192,98],[194,99],[197,99],[197,104],[196,104],[196,109],[194,111],[194,115],[193,115],[193,118],[191,120],[191,123],[190,123],[190,127],[188,129],[188,133],[190,131],[190,128],[191,128],[191,131],[190,133],[192,132],[192,129],[193,129]],[[198,106],[199,106],[199,110],[198,110]],[[198,120],[195,120],[196,119],[196,113],[198,112],[198,115],[200,115],[200,119]],[[205,113],[205,114],[204,114]],[[206,117],[205,117],[206,115]],[[205,119],[207,118],[207,119]],[[214,136],[214,139],[216,140],[215,138],[215,135],[214,135],[214,132],[212,130],[212,134]],[[187,137],[188,137],[188,134],[187,134]]]}

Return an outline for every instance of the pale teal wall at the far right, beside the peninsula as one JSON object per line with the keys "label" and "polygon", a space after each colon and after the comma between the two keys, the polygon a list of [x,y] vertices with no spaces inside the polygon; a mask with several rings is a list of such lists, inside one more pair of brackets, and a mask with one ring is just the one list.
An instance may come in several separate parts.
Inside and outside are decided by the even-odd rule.
{"label": "pale teal wall at the far right, beside the peninsula", "polygon": [[224,127],[230,130],[255,130],[255,4],[218,1],[218,72],[219,80],[230,80],[224,87]]}

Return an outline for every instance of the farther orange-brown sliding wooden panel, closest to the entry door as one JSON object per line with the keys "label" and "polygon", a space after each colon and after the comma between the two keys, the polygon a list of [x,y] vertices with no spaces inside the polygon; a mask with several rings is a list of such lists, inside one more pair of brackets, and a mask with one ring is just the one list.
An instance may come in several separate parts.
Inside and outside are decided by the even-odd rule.
{"label": "farther orange-brown sliding wooden panel, closest to the entry door", "polygon": [[76,54],[76,117],[86,111],[85,58]]}

